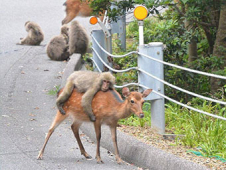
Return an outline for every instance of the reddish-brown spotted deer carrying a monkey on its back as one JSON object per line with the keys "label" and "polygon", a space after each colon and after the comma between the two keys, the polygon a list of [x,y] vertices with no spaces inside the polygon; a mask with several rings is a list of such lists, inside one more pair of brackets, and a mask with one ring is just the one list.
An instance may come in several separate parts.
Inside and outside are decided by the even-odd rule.
{"label": "reddish-brown spotted deer carrying a monkey on its back", "polygon": [[[66,112],[65,115],[61,114],[58,110],[52,125],[46,135],[44,145],[39,152],[37,159],[43,159],[43,153],[46,144],[54,132],[54,130],[62,123],[67,117],[72,117],[73,123],[71,129],[77,140],[80,148],[81,155],[86,159],[91,159],[92,157],[85,151],[83,144],[79,136],[79,127],[83,122],[91,122],[94,124],[94,129],[96,133],[96,161],[97,163],[104,163],[100,156],[100,139],[101,139],[101,125],[106,124],[110,127],[111,137],[114,146],[115,158],[118,164],[121,164],[122,160],[119,156],[118,145],[117,145],[117,122],[119,119],[129,117],[132,113],[139,118],[144,117],[142,111],[142,105],[144,103],[144,98],[151,93],[152,89],[146,89],[143,93],[140,92],[130,92],[129,88],[124,87],[122,89],[122,95],[125,97],[123,101],[120,94],[116,90],[108,90],[107,92],[98,91],[92,100],[93,113],[96,116],[96,121],[91,122],[90,118],[84,113],[81,106],[81,99],[83,93],[73,89],[70,98],[66,101],[63,108]],[[62,89],[59,93],[62,92]]]}

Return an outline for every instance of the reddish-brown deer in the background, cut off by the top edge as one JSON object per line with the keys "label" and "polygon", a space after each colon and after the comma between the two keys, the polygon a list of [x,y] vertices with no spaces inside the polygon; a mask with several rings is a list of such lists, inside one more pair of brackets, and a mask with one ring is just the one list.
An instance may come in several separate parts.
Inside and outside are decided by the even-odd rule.
{"label": "reddish-brown deer in the background, cut off by the top edge", "polygon": [[[90,8],[90,0],[67,0],[63,5],[66,6],[66,17],[62,20],[62,25],[69,23],[76,16],[88,17],[92,15],[93,9]],[[99,12],[101,21],[104,19],[104,11]]]}

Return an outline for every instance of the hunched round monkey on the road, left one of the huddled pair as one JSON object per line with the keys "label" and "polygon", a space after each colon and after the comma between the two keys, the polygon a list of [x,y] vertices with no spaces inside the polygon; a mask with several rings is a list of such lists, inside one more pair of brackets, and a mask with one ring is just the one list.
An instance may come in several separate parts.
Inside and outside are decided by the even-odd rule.
{"label": "hunched round monkey on the road, left one of the huddled pair", "polygon": [[61,27],[60,35],[53,37],[46,47],[46,53],[52,60],[63,61],[69,58],[69,26]]}

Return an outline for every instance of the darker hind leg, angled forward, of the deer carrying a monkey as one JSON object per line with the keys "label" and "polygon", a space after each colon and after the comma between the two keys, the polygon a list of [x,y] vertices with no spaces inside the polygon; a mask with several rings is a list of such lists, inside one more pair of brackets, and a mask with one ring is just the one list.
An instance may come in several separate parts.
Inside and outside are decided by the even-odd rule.
{"label": "darker hind leg, angled forward, of the deer carrying a monkey", "polygon": [[75,135],[75,138],[77,140],[77,143],[78,143],[78,146],[80,148],[80,151],[81,151],[81,154],[84,155],[86,157],[86,159],[91,159],[92,157],[85,151],[83,145],[82,145],[82,142],[81,142],[81,139],[80,139],[80,136],[79,136],[79,127],[81,126],[81,123],[78,123],[78,122],[74,122],[72,125],[71,125],[71,129]]}

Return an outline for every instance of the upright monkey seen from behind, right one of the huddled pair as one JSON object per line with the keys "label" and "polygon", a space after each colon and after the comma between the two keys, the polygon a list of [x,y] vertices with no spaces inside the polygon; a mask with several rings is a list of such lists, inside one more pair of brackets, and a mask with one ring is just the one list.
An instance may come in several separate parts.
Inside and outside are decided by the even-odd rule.
{"label": "upright monkey seen from behind, right one of the huddled pair", "polygon": [[69,29],[69,53],[84,55],[88,49],[89,37],[87,31],[78,21],[72,21]]}

